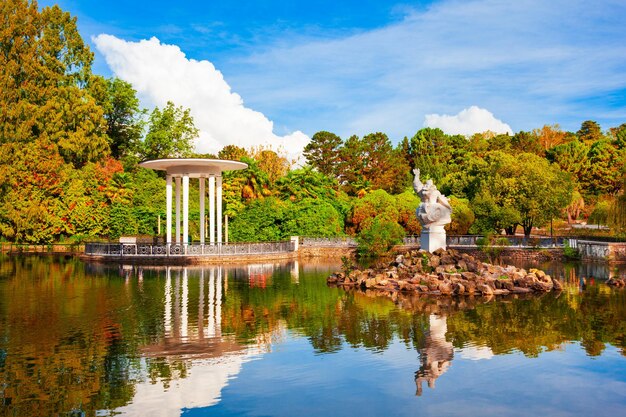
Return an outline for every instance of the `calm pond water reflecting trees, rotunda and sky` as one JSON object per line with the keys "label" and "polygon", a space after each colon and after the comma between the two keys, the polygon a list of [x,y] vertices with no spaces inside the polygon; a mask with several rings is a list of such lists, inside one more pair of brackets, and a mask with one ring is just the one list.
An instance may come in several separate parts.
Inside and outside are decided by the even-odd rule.
{"label": "calm pond water reflecting trees, rotunda and sky", "polygon": [[626,415],[626,271],[542,266],[565,291],[394,302],[338,264],[5,258],[0,415]]}

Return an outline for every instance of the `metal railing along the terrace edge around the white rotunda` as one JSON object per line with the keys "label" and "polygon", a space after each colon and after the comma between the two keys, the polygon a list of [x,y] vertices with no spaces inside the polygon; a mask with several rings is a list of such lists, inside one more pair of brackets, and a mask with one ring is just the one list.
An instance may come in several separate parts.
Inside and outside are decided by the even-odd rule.
{"label": "metal railing along the terrace edge around the white rotunda", "polygon": [[85,243],[85,255],[111,257],[163,256],[237,256],[288,253],[295,250],[291,241],[222,244],[143,244],[143,243]]}

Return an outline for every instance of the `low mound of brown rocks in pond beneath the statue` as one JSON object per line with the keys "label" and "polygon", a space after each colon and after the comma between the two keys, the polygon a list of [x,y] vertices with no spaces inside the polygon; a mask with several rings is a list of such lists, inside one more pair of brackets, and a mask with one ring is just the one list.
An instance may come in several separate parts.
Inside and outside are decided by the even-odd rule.
{"label": "low mound of brown rocks in pond beneath the statue", "polygon": [[336,272],[330,285],[380,290],[387,293],[430,295],[508,295],[560,291],[562,283],[538,269],[481,262],[456,250],[434,253],[408,251],[380,268]]}

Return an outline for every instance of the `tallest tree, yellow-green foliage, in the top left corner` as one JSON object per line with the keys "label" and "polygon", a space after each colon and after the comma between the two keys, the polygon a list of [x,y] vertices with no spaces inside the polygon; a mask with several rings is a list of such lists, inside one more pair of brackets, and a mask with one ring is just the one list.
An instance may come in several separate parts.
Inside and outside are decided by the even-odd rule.
{"label": "tallest tree, yellow-green foliage, in the top left corner", "polygon": [[0,143],[45,138],[79,168],[106,158],[102,109],[85,89],[93,54],[58,6],[0,4]]}

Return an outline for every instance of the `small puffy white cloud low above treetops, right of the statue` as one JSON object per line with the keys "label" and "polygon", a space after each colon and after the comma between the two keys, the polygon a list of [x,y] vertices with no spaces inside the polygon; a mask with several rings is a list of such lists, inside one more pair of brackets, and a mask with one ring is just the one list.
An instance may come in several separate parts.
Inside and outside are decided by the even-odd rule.
{"label": "small puffy white cloud low above treetops, right of the statue", "polygon": [[489,110],[477,106],[461,110],[454,116],[427,114],[424,117],[424,127],[438,127],[449,135],[471,136],[488,130],[494,133],[513,134],[508,124],[496,119]]}

